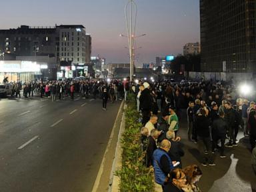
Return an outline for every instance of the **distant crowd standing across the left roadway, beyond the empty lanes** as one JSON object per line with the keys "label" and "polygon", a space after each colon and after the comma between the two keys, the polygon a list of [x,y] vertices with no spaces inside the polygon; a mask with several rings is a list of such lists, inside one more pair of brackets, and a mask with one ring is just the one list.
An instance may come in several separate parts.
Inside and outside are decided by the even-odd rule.
{"label": "distant crowd standing across the left roadway, beyond the empty lanes", "polygon": [[73,80],[73,81],[30,81],[30,82],[13,82],[11,97],[29,98],[34,95],[39,95],[41,98],[57,101],[60,99],[69,98],[74,100],[74,97],[93,98],[103,100],[103,110],[106,110],[107,101],[117,101],[117,99],[126,99],[124,87],[128,85],[122,81],[90,81],[90,80]]}

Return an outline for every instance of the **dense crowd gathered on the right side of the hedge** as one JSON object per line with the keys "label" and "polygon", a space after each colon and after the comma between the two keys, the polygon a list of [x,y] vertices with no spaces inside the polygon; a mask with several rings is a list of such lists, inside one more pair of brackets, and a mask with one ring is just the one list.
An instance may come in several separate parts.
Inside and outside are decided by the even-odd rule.
{"label": "dense crowd gathered on the right side of the hedge", "polygon": [[255,101],[242,97],[234,85],[161,81],[151,85],[139,82],[131,88],[142,116],[145,166],[153,167],[155,182],[163,191],[200,191],[196,185],[202,175],[199,166],[182,167],[185,154],[179,137],[180,121],[187,121],[187,138],[182,139],[197,143],[202,166],[215,166],[214,153],[225,158],[225,147],[239,144],[240,129],[250,141],[255,169]]}

